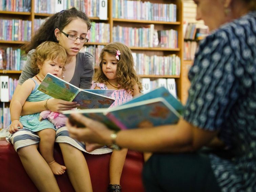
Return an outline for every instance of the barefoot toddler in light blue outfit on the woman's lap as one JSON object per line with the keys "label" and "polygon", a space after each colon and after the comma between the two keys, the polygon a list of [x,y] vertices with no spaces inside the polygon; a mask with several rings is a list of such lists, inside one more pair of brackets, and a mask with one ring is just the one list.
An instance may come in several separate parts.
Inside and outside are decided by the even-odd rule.
{"label": "barefoot toddler in light blue outfit on the woman's lap", "polygon": [[40,153],[56,175],[61,175],[66,170],[65,166],[55,162],[53,156],[56,127],[48,119],[40,121],[40,113],[20,115],[25,101],[37,102],[45,100],[44,107],[47,109],[47,101],[51,97],[37,90],[37,88],[47,73],[62,77],[66,58],[66,51],[60,44],[52,41],[40,44],[30,60],[37,74],[22,84],[18,93],[19,97],[16,97],[13,101],[13,110],[10,111],[12,124],[10,125],[9,132],[14,133],[17,131],[17,128],[23,128],[37,133],[40,137]]}

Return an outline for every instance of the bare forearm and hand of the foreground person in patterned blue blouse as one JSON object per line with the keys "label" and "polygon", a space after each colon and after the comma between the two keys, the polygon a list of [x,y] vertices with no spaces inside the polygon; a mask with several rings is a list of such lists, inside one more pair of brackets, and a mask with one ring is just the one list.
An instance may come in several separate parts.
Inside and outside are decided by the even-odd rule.
{"label": "bare forearm and hand of the foreground person in patterned blue blouse", "polygon": [[[85,128],[76,128],[67,123],[71,137],[88,143],[107,145],[112,143],[110,135],[113,131],[104,124],[81,114],[72,114],[72,118],[83,123]],[[145,152],[186,152],[208,144],[217,133],[194,127],[180,119],[175,125],[120,131],[117,133],[116,144]]]}

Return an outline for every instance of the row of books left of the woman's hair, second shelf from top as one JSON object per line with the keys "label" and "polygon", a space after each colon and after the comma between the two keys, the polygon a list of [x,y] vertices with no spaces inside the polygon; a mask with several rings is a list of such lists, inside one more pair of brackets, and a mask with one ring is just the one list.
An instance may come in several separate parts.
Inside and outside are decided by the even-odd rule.
{"label": "row of books left of the woman's hair, second shelf from top", "polygon": [[31,37],[31,21],[0,19],[0,40],[28,41]]}

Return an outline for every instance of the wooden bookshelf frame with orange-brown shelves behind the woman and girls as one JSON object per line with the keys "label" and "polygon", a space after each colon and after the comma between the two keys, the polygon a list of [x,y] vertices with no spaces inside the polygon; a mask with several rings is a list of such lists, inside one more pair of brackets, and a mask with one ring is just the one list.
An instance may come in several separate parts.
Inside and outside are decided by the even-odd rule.
{"label": "wooden bookshelf frame with orange-brown shelves behind the woman and girls", "polygon": [[[177,31],[177,47],[175,48],[166,48],[166,47],[140,47],[140,46],[130,46],[131,50],[135,53],[142,53],[147,56],[169,56],[172,54],[177,55],[180,58],[180,74],[179,75],[155,75],[155,74],[141,74],[142,78],[174,78],[177,86],[177,96],[185,104],[186,96],[183,94],[183,90],[187,91],[185,88],[187,87],[187,79],[186,76],[183,75],[183,46],[184,46],[184,38],[183,38],[183,1],[182,0],[148,0],[150,3],[160,3],[160,4],[175,4],[176,5],[176,21],[154,21],[154,20],[135,20],[135,19],[123,19],[123,18],[114,18],[113,17],[113,4],[116,0],[107,0],[107,19],[102,20],[98,17],[89,17],[92,21],[96,23],[107,23],[109,24],[109,32],[110,32],[110,42],[113,41],[113,28],[116,26],[126,26],[126,27],[142,27],[146,25],[153,24],[155,29],[157,30],[170,30],[174,29]],[[31,9],[29,12],[11,12],[11,11],[1,11],[0,10],[0,19],[22,19],[31,21],[31,34],[34,34],[35,29],[35,21],[36,19],[44,19],[52,14],[46,13],[35,13],[35,3],[36,0],[31,0]],[[162,13],[162,10],[159,10],[159,13]],[[86,12],[87,13],[87,12]],[[24,41],[6,41],[0,39],[0,49],[6,47],[19,48]],[[108,43],[108,42],[107,42]],[[99,43],[99,42],[90,42],[90,45],[105,45],[107,43]],[[13,70],[0,70],[0,76],[7,75],[12,78],[19,78],[21,71],[13,71]]]}

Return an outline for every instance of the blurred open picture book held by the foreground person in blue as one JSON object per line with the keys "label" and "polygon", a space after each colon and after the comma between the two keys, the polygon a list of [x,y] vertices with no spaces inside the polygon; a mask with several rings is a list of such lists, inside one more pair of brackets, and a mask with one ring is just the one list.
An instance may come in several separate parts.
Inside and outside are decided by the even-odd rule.
{"label": "blurred open picture book held by the foreground person in blue", "polygon": [[[183,108],[166,88],[160,87],[113,108],[61,112],[67,117],[72,113],[82,113],[88,118],[104,123],[110,129],[118,130],[175,124],[181,117]],[[81,126],[72,119],[71,123]]]}

